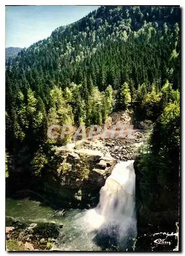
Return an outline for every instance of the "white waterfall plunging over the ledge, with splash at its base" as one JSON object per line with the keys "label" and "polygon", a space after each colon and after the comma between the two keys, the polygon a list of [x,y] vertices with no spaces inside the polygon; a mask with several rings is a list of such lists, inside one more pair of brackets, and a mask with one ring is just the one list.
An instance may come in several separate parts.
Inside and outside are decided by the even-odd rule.
{"label": "white waterfall plunging over the ledge, with splash at its base", "polygon": [[88,227],[98,232],[99,240],[113,239],[112,241],[116,240],[115,244],[119,246],[128,246],[128,241],[133,244],[130,238],[136,235],[133,162],[134,160],[129,160],[115,165],[100,190],[98,206],[88,210],[85,217],[88,220]]}

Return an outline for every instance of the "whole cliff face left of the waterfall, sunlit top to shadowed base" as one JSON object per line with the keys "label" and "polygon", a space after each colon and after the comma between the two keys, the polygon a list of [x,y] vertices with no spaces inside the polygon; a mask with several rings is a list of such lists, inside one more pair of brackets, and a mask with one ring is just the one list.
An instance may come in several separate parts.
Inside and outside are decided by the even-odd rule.
{"label": "whole cliff face left of the waterfall, sunlit top to shadowed base", "polygon": [[115,163],[113,158],[101,154],[54,151],[47,173],[42,176],[42,190],[58,198],[63,206],[95,206]]}

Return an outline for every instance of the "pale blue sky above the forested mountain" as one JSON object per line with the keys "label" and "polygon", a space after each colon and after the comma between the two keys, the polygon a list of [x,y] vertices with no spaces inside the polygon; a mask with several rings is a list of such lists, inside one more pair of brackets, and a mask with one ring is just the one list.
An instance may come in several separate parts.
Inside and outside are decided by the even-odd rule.
{"label": "pale blue sky above the forested mountain", "polygon": [[29,47],[99,6],[6,6],[6,47]]}

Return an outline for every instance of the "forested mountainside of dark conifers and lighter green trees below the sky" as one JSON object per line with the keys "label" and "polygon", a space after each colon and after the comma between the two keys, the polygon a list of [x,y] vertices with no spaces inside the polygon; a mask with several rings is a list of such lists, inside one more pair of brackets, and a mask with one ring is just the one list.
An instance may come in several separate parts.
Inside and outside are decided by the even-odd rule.
{"label": "forested mountainside of dark conifers and lighter green trees below the sky", "polygon": [[[47,138],[49,125],[103,124],[113,110],[134,101],[141,120],[158,120],[153,138],[157,131],[161,136],[152,142],[152,150],[157,154],[163,145],[160,154],[167,165],[177,152],[175,163],[170,160],[176,169],[179,23],[179,7],[102,6],[8,58],[7,176],[17,169],[25,177],[40,174],[53,143]],[[167,118],[173,119],[170,127],[176,132]],[[174,140],[167,145],[169,136]]]}

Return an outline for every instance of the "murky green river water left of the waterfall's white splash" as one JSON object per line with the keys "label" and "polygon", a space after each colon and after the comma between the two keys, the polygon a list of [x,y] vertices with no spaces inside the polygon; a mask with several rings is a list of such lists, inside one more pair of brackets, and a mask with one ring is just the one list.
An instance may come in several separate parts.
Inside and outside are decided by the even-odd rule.
{"label": "murky green river water left of the waterfall's white splash", "polygon": [[[53,210],[51,207],[43,206],[40,202],[29,199],[6,199],[6,226],[10,226],[13,220],[21,223],[47,223],[54,222],[63,224],[58,243],[55,249],[58,250],[99,250],[92,239],[95,232],[84,230],[78,225],[78,219],[83,218],[87,210],[68,209],[63,215],[62,209]],[[84,241],[85,238],[85,243]]]}

